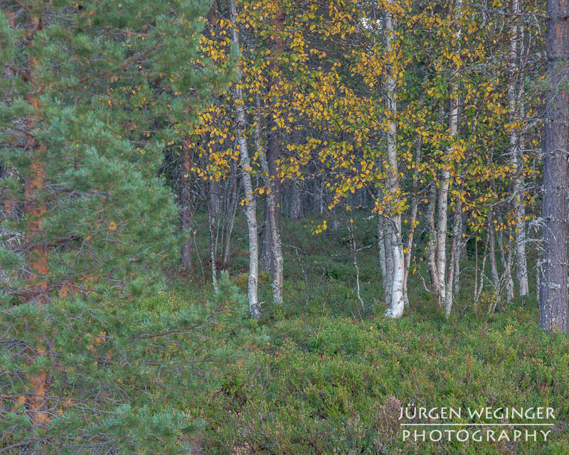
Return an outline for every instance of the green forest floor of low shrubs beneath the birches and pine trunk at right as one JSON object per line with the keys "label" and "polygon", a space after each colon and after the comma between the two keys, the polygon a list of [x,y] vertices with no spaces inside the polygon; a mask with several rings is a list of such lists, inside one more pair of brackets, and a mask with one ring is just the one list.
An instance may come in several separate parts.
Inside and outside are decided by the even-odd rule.
{"label": "green forest floor of low shrubs beneath the birches and pine trunk at right", "polygon": [[[427,275],[419,263],[410,280],[410,307],[402,319],[386,319],[373,220],[361,220],[354,230],[363,307],[347,229],[314,235],[318,223],[285,220],[282,307],[272,306],[270,276],[261,275],[259,325],[267,328],[269,341],[250,346],[236,361],[206,367],[207,384],[181,405],[206,422],[194,441],[198,453],[569,454],[569,337],[538,328],[535,289],[526,301],[488,316],[493,289],[486,283],[474,307],[467,260],[454,314],[445,321],[420,278]],[[235,238],[229,272],[245,293],[243,226],[236,226]],[[202,232],[203,254],[201,262],[194,257],[192,274],[171,273],[169,291],[144,306],[176,311],[211,294],[207,242]],[[554,418],[478,419],[507,424],[500,427],[402,427],[400,408],[413,405],[462,412],[460,419],[430,423],[472,423],[477,419],[469,419],[467,410],[481,407],[552,407]],[[404,441],[405,429],[410,434]],[[448,441],[444,429],[466,429],[468,440],[457,441],[454,432]],[[432,430],[442,432],[441,441],[431,440],[440,437]],[[551,430],[546,441],[540,430]]]}

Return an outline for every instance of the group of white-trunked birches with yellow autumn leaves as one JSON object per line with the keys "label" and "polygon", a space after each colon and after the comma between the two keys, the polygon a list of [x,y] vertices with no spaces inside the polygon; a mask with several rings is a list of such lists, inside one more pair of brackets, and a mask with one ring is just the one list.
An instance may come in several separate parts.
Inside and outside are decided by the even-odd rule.
{"label": "group of white-trunked birches with yellow autumn leaves", "polygon": [[[283,299],[281,214],[320,214],[315,233],[338,213],[376,216],[378,279],[394,318],[415,273],[447,317],[465,280],[472,305],[491,294],[489,312],[565,289],[566,273],[551,282],[548,269],[566,261],[543,256],[546,245],[566,250],[553,240],[560,233],[543,237],[546,119],[565,83],[563,70],[548,70],[548,17],[532,1],[214,3],[203,52],[223,62],[238,46],[238,75],[184,146],[211,193],[243,181],[251,314],[259,267],[273,276],[274,303]],[[232,188],[224,198],[237,199]],[[212,237],[211,264],[217,248]],[[567,330],[559,298],[560,316],[543,326]],[[558,296],[538,296],[542,307],[548,299]]]}

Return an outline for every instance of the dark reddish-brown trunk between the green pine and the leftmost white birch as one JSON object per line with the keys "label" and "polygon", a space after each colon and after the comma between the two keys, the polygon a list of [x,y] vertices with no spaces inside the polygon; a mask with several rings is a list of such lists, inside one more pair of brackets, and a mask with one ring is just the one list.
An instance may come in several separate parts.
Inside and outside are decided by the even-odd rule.
{"label": "dark reddish-brown trunk between the green pine and the leftmost white birch", "polygon": [[187,237],[187,240],[180,248],[180,264],[187,270],[191,269],[191,151],[188,144],[182,146],[182,157],[180,165],[180,232]]}

